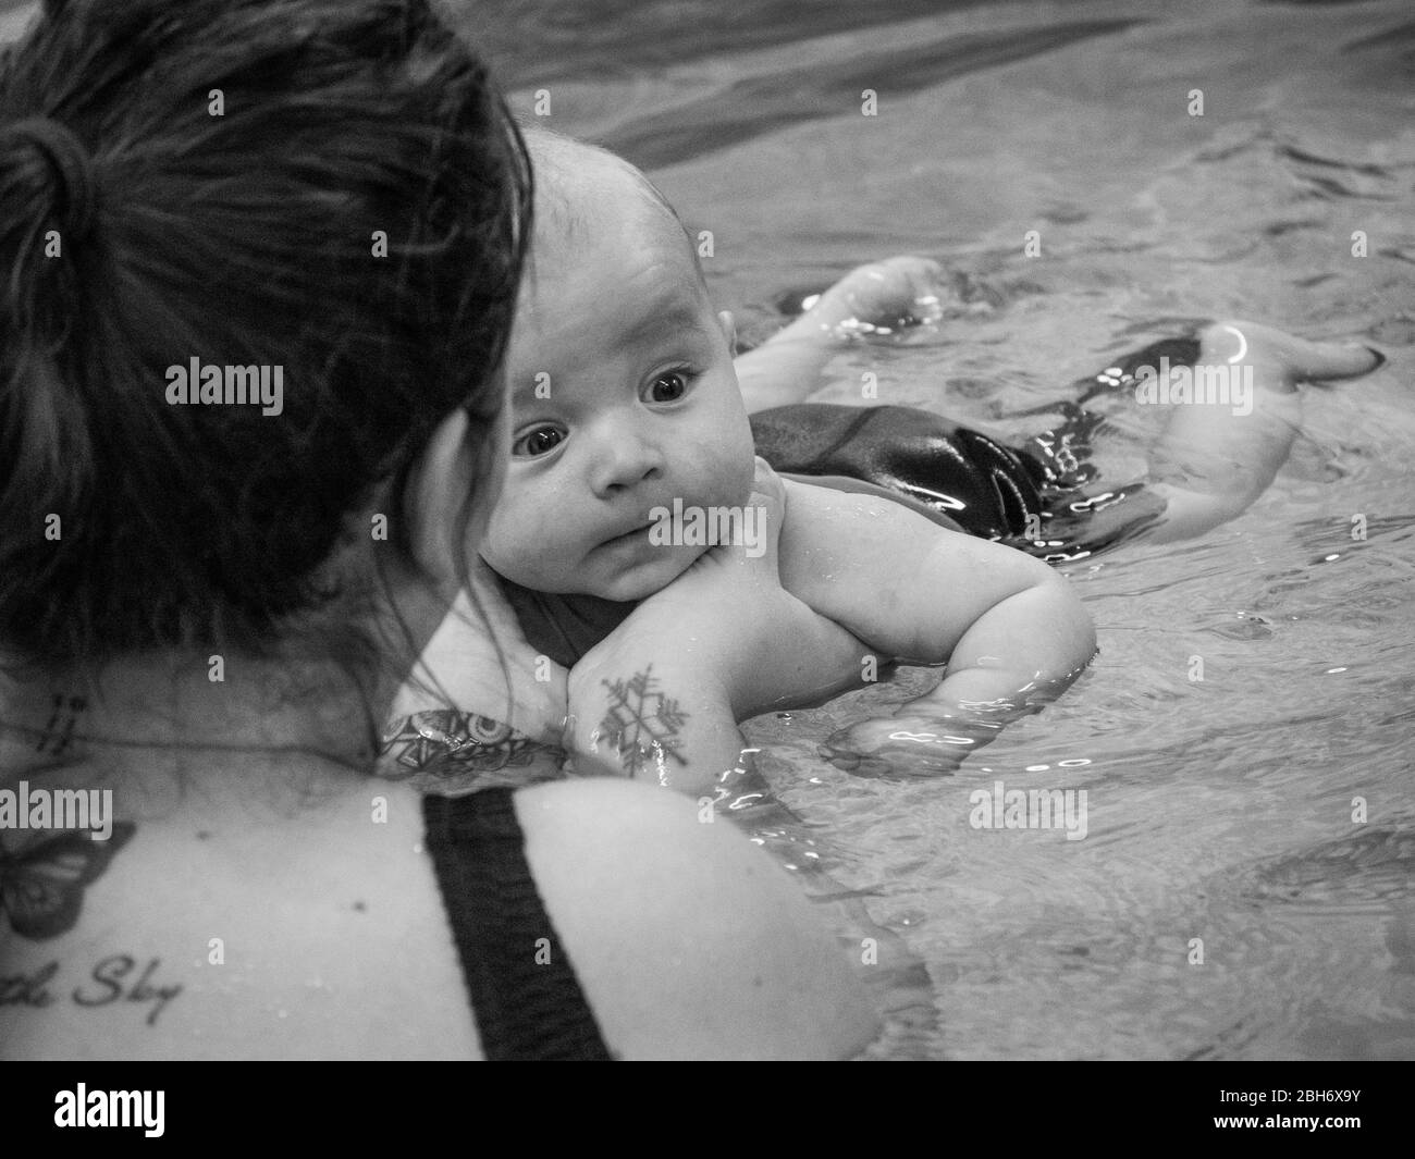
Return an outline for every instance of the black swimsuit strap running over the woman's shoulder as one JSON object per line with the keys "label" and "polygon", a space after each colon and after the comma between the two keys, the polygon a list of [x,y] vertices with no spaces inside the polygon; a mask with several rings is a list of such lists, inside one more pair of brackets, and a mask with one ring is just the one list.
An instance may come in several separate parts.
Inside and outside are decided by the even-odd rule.
{"label": "black swimsuit strap running over the woman's shoulder", "polygon": [[481,1047],[494,1060],[613,1057],[531,879],[509,788],[424,797],[427,852]]}

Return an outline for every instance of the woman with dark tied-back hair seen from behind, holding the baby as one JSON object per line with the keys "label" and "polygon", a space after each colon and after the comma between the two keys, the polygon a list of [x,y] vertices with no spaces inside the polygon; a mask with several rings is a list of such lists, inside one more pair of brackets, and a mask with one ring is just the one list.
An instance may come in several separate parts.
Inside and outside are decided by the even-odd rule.
{"label": "woman with dark tied-back hair seen from behind, holding the baby", "polygon": [[[872,1033],[794,884],[692,802],[565,781],[424,817],[372,775],[495,501],[528,191],[416,0],[75,0],[10,52],[0,1054]],[[741,614],[781,613],[758,580]]]}

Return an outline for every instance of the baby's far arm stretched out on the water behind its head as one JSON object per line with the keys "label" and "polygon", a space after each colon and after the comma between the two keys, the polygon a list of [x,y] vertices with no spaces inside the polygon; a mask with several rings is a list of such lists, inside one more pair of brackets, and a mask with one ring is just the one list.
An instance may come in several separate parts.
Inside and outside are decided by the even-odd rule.
{"label": "baby's far arm stretched out on the water behind its head", "polygon": [[849,324],[897,327],[938,310],[944,269],[927,258],[889,258],[850,270],[790,325],[736,359],[747,413],[804,402],[845,345]]}

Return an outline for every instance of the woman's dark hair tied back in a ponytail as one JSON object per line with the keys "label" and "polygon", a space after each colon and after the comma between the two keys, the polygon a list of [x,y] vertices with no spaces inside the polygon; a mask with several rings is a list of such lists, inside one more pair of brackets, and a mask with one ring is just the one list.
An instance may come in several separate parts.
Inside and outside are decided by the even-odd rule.
{"label": "woman's dark hair tied back in a ponytail", "polygon": [[[529,185],[426,0],[51,3],[0,65],[0,644],[269,651],[375,485],[499,413]],[[280,413],[168,402],[194,358],[280,367]]]}

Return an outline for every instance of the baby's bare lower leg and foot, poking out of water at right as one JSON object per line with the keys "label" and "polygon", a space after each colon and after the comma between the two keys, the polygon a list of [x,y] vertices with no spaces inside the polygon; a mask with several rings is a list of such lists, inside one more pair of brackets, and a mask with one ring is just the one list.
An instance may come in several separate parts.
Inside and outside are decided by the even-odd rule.
{"label": "baby's bare lower leg and foot, poking out of water at right", "polygon": [[[1146,485],[1166,501],[1159,522],[1143,535],[1149,542],[1201,535],[1268,488],[1302,427],[1298,384],[1353,378],[1384,361],[1367,347],[1309,342],[1252,323],[1215,323],[1199,338],[1187,384],[1191,400],[1169,403],[1149,451]],[[1136,400],[1183,399],[1183,386],[1182,378],[1166,384],[1157,375],[1153,384],[1142,381]]]}

